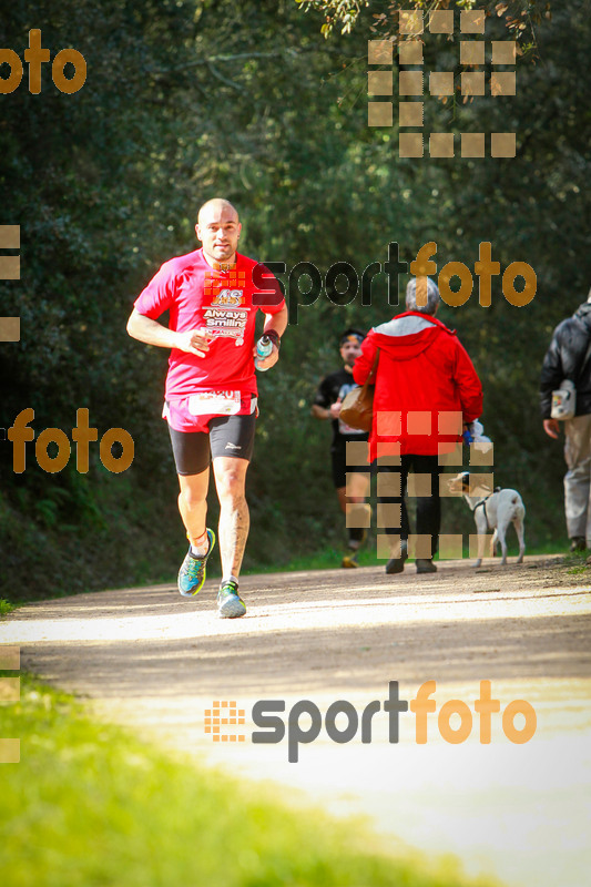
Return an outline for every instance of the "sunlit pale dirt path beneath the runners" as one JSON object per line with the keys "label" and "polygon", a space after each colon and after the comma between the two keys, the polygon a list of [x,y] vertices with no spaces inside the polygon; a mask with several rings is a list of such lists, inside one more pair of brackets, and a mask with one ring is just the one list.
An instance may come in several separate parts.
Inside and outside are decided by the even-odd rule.
{"label": "sunlit pale dirt path beneath the runners", "polygon": [[[420,578],[412,565],[401,577],[386,577],[383,567],[245,577],[248,614],[233,621],[217,619],[215,591],[212,581],[188,602],[159,585],[31,604],[0,624],[0,643],[19,645],[22,667],[90,696],[109,720],[237,775],[276,781],[286,797],[367,815],[391,847],[400,838],[456,853],[470,873],[493,871],[516,887],[588,883],[587,571],[527,558],[522,567],[489,562],[479,571],[448,562]],[[400,715],[399,743],[388,742],[384,711],[374,716],[371,744],[359,733],[337,744],[323,725],[314,743],[299,746],[297,763],[288,763],[285,740],[252,742],[257,700],[284,700],[286,723],[302,699],[323,715],[347,700],[360,715],[370,701],[387,699],[389,681],[411,700],[431,679],[437,712],[425,745],[415,742],[410,712]],[[473,701],[481,680],[492,682],[501,712],[516,699],[533,706],[530,742],[509,742],[499,714],[491,743],[480,744]],[[449,700],[472,711],[462,744],[439,735],[438,713]],[[221,727],[245,742],[213,742],[204,732],[213,701],[245,711],[244,726]],[[303,715],[302,728],[309,723]]]}

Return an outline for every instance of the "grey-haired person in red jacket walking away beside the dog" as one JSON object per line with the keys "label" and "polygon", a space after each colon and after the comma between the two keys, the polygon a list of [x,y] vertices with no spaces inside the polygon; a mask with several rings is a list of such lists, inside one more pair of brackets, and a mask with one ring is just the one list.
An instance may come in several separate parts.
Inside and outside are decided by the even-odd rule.
{"label": "grey-haired person in red jacket walking away beside the dog", "polygon": [[[407,310],[368,333],[353,368],[355,381],[361,385],[379,349],[369,453],[380,473],[398,475],[387,483],[378,478],[380,522],[391,523],[386,528],[393,537],[387,573],[403,572],[408,558],[405,496],[410,469],[422,476],[422,487],[430,479],[430,495],[424,488],[417,497],[417,573],[436,572],[440,457],[456,449],[462,428],[482,411],[480,379],[456,333],[436,319],[438,306],[439,289],[434,281],[419,278],[417,294],[417,278],[412,278],[406,290]],[[380,487],[384,492],[386,486],[388,495],[380,495]]]}

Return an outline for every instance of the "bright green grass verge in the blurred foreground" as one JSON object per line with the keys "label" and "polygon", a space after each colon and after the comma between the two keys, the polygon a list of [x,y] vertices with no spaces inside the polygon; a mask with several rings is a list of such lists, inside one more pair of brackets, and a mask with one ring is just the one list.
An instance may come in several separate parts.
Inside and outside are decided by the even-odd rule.
{"label": "bright green grass verge in the blurred foreground", "polygon": [[[4,673],[9,674],[9,673]],[[387,856],[359,825],[172,759],[22,679],[0,705],[0,870],[10,887],[461,887],[449,859]]]}

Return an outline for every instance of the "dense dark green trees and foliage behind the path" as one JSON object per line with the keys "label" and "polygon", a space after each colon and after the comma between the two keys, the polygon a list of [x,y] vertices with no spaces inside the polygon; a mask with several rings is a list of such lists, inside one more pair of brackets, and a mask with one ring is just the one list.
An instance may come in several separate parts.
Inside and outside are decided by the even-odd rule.
{"label": "dense dark green trees and foliage behind the path", "polygon": [[[60,93],[45,64],[41,94],[29,93],[26,70],[0,95],[0,224],[20,224],[22,241],[21,281],[0,283],[1,314],[22,323],[19,344],[0,344],[0,425],[32,407],[37,434],[70,434],[86,407],[99,437],[111,427],[132,434],[135,460],[109,473],[93,445],[88,475],[73,455],[48,475],[29,443],[27,470],[14,475],[12,447],[0,441],[2,597],[174,575],[184,544],[159,418],[166,355],[131,340],[125,322],[157,266],[194,248],[196,211],[214,195],[238,206],[244,252],[288,269],[309,261],[325,274],[347,261],[360,274],[386,261],[390,241],[405,261],[436,241],[439,268],[473,267],[490,241],[501,268],[521,259],[536,269],[538,294],[524,308],[499,283],[481,308],[476,284],[467,305],[440,316],[483,380],[496,481],[522,492],[529,544],[562,544],[562,455],[541,430],[537,385],[552,327],[591,278],[589,3],[561,4],[537,29],[538,59],[519,61],[514,98],[426,101],[426,131],[514,129],[518,156],[508,160],[399,159],[396,126],[368,128],[378,7],[329,41],[293,0],[23,0],[3,13],[0,45],[22,58],[29,29],[41,28],[52,58],[64,47],[83,53],[88,80]],[[505,39],[500,20],[490,27]],[[454,42],[429,40],[430,69],[456,59]],[[371,306],[334,305],[323,293],[299,309],[279,365],[259,380],[246,567],[338,543],[328,427],[309,417],[309,402],[338,367],[338,333],[395,312],[384,274]],[[212,511],[215,520],[214,497]],[[444,530],[471,531],[456,502]]]}

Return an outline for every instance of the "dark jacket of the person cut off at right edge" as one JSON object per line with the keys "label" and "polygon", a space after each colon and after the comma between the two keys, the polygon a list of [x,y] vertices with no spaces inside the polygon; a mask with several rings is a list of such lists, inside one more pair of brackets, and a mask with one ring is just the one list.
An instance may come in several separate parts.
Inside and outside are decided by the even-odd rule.
{"label": "dark jacket of the person cut off at right edge", "polygon": [[577,416],[591,412],[591,358],[581,367],[591,341],[591,303],[583,303],[562,320],[552,334],[550,347],[542,364],[540,406],[542,418],[550,418],[552,391],[562,379],[571,379],[577,387]]}

